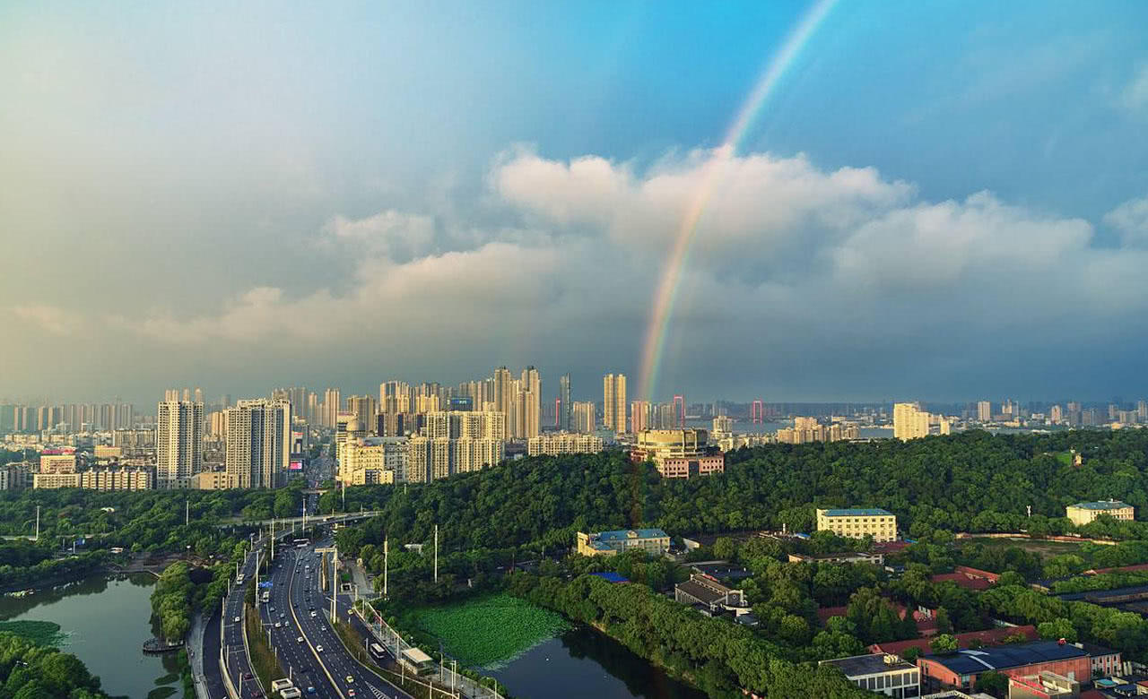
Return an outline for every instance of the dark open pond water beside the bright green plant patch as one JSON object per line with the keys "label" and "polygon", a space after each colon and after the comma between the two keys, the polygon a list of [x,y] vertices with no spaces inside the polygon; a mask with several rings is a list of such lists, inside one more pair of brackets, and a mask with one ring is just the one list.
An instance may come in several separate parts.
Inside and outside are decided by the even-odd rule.
{"label": "dark open pond water beside the bright green plant patch", "polygon": [[496,677],[511,694],[532,699],[706,699],[613,638],[582,626],[483,674]]}

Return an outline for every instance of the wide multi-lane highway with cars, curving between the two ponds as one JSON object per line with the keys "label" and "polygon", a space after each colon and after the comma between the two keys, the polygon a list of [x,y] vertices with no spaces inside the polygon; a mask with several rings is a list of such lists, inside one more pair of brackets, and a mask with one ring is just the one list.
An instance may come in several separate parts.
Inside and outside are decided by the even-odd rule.
{"label": "wide multi-lane highway with cars, curving between the two ponds", "polygon": [[[328,539],[277,552],[279,560],[271,569],[270,600],[259,606],[264,623],[270,624],[279,663],[309,697],[408,699],[409,694],[358,665],[331,627],[331,598],[320,590],[321,564],[316,552],[317,547],[329,545]],[[340,606],[341,616],[347,608]],[[276,628],[276,623],[280,627]]]}

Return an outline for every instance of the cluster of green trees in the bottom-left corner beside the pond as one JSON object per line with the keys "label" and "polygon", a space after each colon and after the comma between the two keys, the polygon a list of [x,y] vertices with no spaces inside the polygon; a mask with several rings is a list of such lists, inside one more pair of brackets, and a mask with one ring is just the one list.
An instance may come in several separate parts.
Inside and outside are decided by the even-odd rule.
{"label": "cluster of green trees in the bottom-left corner beside the pond", "polygon": [[0,631],[0,694],[13,699],[106,699],[100,679],[70,653]]}

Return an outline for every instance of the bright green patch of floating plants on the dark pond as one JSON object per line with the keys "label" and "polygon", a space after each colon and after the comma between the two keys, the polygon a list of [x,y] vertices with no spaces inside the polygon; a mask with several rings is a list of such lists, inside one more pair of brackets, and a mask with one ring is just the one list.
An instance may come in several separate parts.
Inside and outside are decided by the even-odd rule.
{"label": "bright green patch of floating plants on the dark pond", "polygon": [[422,631],[470,667],[494,668],[566,628],[561,615],[510,595],[481,597],[411,613]]}

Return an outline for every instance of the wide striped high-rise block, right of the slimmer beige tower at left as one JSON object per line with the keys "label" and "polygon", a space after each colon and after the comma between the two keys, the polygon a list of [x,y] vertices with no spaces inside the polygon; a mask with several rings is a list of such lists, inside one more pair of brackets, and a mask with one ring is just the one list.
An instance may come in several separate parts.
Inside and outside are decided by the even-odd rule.
{"label": "wide striped high-rise block, right of the slimmer beige tower at left", "polygon": [[[329,393],[329,391],[328,391]],[[284,484],[290,460],[289,401],[238,401],[226,411],[227,477],[235,488]]]}

